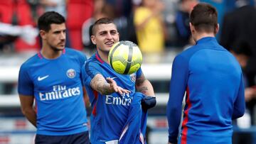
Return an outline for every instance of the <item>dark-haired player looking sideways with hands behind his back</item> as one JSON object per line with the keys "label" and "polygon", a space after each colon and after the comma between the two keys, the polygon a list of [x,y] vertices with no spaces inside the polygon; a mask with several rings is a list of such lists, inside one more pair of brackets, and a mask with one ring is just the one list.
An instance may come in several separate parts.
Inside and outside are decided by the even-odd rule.
{"label": "dark-haired player looking sideways with hands behind his back", "polygon": [[41,52],[18,74],[21,110],[37,128],[35,143],[90,143],[81,79],[86,57],[65,48],[65,18],[59,13],[44,13],[38,28]]}

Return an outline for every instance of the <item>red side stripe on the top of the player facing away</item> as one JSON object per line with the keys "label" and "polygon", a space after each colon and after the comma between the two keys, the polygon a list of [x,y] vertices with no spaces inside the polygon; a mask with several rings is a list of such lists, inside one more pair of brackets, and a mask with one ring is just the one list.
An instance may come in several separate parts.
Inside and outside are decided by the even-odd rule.
{"label": "red side stripe on the top of the player facing away", "polygon": [[181,144],[187,143],[186,135],[188,135],[188,127],[186,126],[186,123],[188,123],[188,111],[189,111],[189,109],[191,109],[191,101],[189,101],[188,87],[186,89],[186,94],[187,94],[186,104],[188,105],[188,107],[187,107],[186,111],[184,112],[184,119],[182,122],[183,131],[182,131],[182,136],[181,136]]}

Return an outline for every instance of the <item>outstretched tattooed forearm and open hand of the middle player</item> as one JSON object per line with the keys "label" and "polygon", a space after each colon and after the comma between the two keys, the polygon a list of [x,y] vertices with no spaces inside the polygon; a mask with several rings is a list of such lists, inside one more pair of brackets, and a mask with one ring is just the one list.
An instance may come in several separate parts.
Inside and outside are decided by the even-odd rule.
{"label": "outstretched tattooed forearm and open hand of the middle player", "polygon": [[129,93],[129,90],[117,86],[114,79],[111,79],[110,77],[105,79],[102,74],[96,74],[95,77],[93,77],[90,82],[90,87],[95,89],[95,91],[100,92],[102,95],[112,94],[113,92],[118,92],[119,94]]}

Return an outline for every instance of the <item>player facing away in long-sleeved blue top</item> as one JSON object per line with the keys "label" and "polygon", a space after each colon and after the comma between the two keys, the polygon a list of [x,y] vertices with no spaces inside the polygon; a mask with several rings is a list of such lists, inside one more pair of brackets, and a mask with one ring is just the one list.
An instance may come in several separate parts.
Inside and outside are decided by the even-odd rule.
{"label": "player facing away in long-sleeved blue top", "polygon": [[169,143],[232,143],[232,119],[245,112],[242,70],[215,39],[217,15],[213,6],[203,3],[191,12],[190,28],[196,45],[174,59],[166,111]]}

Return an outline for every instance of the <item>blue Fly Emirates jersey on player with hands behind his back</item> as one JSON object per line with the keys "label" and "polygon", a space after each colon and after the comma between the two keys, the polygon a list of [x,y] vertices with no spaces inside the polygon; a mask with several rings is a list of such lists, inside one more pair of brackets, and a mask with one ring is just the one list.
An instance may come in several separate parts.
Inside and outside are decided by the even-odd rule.
{"label": "blue Fly Emirates jersey on player with hands behind his back", "polygon": [[82,92],[82,52],[65,48],[48,60],[39,52],[21,65],[18,94],[34,96],[37,134],[71,135],[87,131]]}

